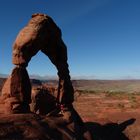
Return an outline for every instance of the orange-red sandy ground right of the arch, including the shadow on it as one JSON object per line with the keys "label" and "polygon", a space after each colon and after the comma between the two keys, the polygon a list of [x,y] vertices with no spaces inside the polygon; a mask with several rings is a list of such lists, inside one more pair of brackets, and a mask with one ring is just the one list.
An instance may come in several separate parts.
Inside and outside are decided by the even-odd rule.
{"label": "orange-red sandy ground right of the arch, including the shadow on it", "polygon": [[82,94],[74,106],[95,140],[140,140],[139,100],[135,94]]}

